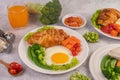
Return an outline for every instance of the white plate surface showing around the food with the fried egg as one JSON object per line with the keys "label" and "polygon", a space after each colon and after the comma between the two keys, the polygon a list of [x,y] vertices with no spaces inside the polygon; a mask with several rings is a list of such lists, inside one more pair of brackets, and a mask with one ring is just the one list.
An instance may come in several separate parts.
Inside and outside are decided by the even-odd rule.
{"label": "white plate surface showing around the food with the fried egg", "polygon": [[[65,70],[65,71],[53,71],[53,70],[46,70],[46,69],[43,69],[43,68],[40,68],[38,66],[36,66],[32,61],[29,60],[28,56],[27,56],[27,48],[28,48],[28,43],[24,41],[24,37],[21,39],[20,43],[19,43],[19,47],[18,47],[18,52],[19,52],[19,56],[21,58],[21,60],[28,66],[30,67],[31,69],[35,70],[35,71],[38,71],[38,72],[41,72],[41,73],[46,73],[46,74],[61,74],[61,73],[66,73],[66,72],[69,72],[69,71],[72,71],[76,68],[78,68],[79,66],[81,66],[85,60],[87,59],[88,57],[88,52],[89,52],[89,48],[88,48],[88,44],[87,42],[85,41],[85,39],[82,37],[82,35],[80,35],[78,32],[74,31],[74,30],[71,30],[69,28],[65,28],[65,27],[61,27],[61,26],[56,26],[56,28],[58,29],[63,29],[67,34],[69,35],[73,35],[73,36],[76,36],[78,39],[81,40],[81,47],[82,47],[82,51],[79,53],[79,55],[77,56],[78,60],[80,61],[80,63],[73,67],[73,68],[70,68],[68,70]],[[37,28],[38,29],[38,28]],[[34,32],[36,31],[37,29],[34,29],[30,32]]]}

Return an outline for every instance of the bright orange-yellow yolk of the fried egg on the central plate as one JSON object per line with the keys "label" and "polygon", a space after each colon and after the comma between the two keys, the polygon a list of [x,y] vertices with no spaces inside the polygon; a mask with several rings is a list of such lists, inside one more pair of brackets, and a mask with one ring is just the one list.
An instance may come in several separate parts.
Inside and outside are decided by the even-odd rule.
{"label": "bright orange-yellow yolk of the fried egg on the central plate", "polygon": [[65,53],[55,53],[52,55],[52,62],[56,64],[63,64],[68,62],[69,57]]}

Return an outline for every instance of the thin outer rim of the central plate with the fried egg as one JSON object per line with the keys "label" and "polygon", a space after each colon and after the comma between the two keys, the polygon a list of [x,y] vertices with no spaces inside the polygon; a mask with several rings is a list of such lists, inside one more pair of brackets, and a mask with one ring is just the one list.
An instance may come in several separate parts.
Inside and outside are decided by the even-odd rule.
{"label": "thin outer rim of the central plate with the fried egg", "polygon": [[[36,25],[36,26],[37,26],[37,25]],[[70,31],[72,31],[72,32],[74,32],[74,33],[79,34],[79,36],[82,37],[82,40],[84,40],[84,43],[85,43],[86,48],[87,48],[87,53],[86,53],[86,57],[84,58],[84,60],[83,60],[82,62],[80,61],[80,63],[79,63],[77,66],[73,67],[73,68],[70,68],[70,69],[65,70],[65,71],[62,71],[62,72],[57,72],[57,71],[56,71],[56,72],[54,72],[54,73],[48,73],[48,72],[38,71],[38,70],[34,69],[33,67],[29,66],[29,65],[27,64],[27,62],[25,62],[25,61],[23,60],[23,58],[21,57],[21,55],[20,55],[20,49],[19,49],[19,48],[20,48],[20,44],[21,44],[22,41],[24,40],[24,37],[25,37],[29,32],[34,32],[34,31],[36,31],[37,29],[40,29],[40,28],[43,27],[43,26],[38,26],[37,28],[35,28],[35,29],[33,29],[33,30],[30,30],[28,33],[26,33],[26,34],[21,38],[21,40],[20,40],[20,42],[19,42],[18,53],[19,53],[19,57],[20,57],[20,59],[22,60],[22,62],[23,62],[25,65],[27,65],[30,69],[35,70],[35,71],[37,71],[37,72],[45,73],[45,74],[62,74],[62,73],[67,73],[67,72],[70,72],[70,71],[72,71],[72,70],[80,67],[80,66],[86,61],[86,59],[88,58],[88,55],[89,55],[89,47],[88,47],[88,43],[86,42],[86,40],[83,38],[83,36],[82,36],[80,33],[78,33],[78,32],[75,31],[75,30],[72,30],[72,29],[69,29],[69,28],[66,28],[66,27],[63,27],[63,26],[57,26],[57,25],[50,25],[50,26],[54,26],[55,28],[63,29],[63,30],[64,30],[64,29],[67,29],[67,30],[70,30]],[[60,27],[60,28],[59,28],[59,27]],[[37,66],[37,65],[35,65],[35,66]],[[38,67],[38,66],[37,66],[37,67]],[[40,68],[40,67],[39,67],[39,68]],[[43,69],[43,68],[40,68],[40,69]],[[44,69],[44,70],[46,70],[46,69]]]}

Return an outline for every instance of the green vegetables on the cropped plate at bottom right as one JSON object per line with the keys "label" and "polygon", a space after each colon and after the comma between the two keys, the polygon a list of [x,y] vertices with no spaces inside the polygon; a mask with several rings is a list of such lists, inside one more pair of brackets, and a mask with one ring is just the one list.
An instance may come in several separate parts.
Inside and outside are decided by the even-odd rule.
{"label": "green vegetables on the cropped plate at bottom right", "polygon": [[101,61],[100,68],[103,75],[109,80],[120,80],[120,67],[116,66],[117,59],[105,55]]}

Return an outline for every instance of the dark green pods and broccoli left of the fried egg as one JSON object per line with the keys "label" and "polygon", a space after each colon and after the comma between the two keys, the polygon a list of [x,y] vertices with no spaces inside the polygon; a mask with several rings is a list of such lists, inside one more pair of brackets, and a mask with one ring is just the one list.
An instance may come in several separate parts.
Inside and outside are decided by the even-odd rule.
{"label": "dark green pods and broccoli left of the fried egg", "polygon": [[28,57],[29,59],[34,62],[37,66],[51,70],[52,68],[46,64],[44,60],[45,56],[45,49],[44,47],[40,46],[39,44],[33,44],[32,46],[28,47]]}

